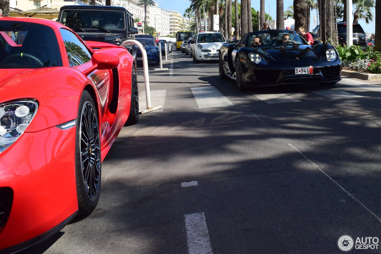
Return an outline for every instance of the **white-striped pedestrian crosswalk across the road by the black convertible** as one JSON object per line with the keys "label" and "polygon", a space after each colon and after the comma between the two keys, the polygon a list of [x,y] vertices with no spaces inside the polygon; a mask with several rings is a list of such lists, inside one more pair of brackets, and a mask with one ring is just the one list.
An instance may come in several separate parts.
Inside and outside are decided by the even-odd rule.
{"label": "white-striped pedestrian crosswalk across the road by the black convertible", "polygon": [[[343,86],[344,85],[344,86]],[[355,88],[354,88],[355,87]],[[277,89],[274,89],[276,91]],[[365,82],[360,82],[352,79],[344,79],[338,82],[335,87],[312,87],[306,86],[306,90],[301,90],[298,93],[256,93],[255,90],[251,92],[253,98],[259,99],[267,104],[280,104],[280,103],[303,103],[303,98],[306,97],[308,93],[314,93],[316,95],[323,96],[325,98],[330,98],[333,100],[347,99],[347,98],[359,98],[365,95],[362,92],[381,92],[381,86],[368,84]],[[229,94],[223,94],[220,92],[218,87],[213,87],[211,85],[203,85],[199,87],[191,87],[189,89],[190,94],[193,95],[195,104],[198,108],[217,108],[217,107],[227,107],[234,106],[234,101],[236,98],[230,96]],[[151,105],[158,106],[161,105],[164,110],[164,103],[166,97],[166,90],[151,90]],[[139,110],[147,108],[145,92],[139,94]]]}

